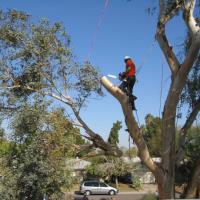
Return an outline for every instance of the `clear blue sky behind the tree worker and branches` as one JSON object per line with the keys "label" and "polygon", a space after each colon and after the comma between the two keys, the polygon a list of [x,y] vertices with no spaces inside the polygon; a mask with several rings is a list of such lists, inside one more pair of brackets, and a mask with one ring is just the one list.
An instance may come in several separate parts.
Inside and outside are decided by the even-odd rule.
{"label": "clear blue sky behind the tree worker and branches", "polygon": [[[107,0],[108,6],[97,30],[99,16],[105,0],[1,0],[0,7],[29,13],[33,18],[45,17],[52,23],[62,22],[71,37],[71,48],[77,60],[87,58],[94,33],[96,39],[89,61],[103,75],[118,75],[125,68],[123,58],[131,56],[140,69],[134,87],[139,123],[146,114],[159,116],[170,84],[169,67],[155,41],[157,11],[149,15],[146,9],[155,6],[157,0]],[[97,30],[97,31],[96,31]],[[183,43],[185,24],[177,16],[167,25],[167,36],[174,50]],[[161,77],[163,66],[163,85]],[[118,80],[110,79],[119,84]],[[161,101],[160,101],[160,97]],[[120,145],[128,146],[128,135],[119,103],[105,91],[105,97],[91,100],[81,112],[82,118],[94,131],[107,138],[114,122],[122,121]]]}

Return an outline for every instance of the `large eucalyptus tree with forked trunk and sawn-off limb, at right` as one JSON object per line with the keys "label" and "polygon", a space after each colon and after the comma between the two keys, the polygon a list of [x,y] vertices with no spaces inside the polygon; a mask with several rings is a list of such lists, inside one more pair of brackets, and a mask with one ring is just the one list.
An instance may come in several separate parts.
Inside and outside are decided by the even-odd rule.
{"label": "large eucalyptus tree with forked trunk and sawn-off limb, at right", "polygon": [[[181,149],[184,147],[184,140],[187,136],[188,129],[195,120],[200,109],[200,101],[199,99],[196,99],[197,101],[193,107],[191,107],[192,109],[188,115],[185,125],[182,128],[182,133],[180,134],[181,142],[179,143],[178,149],[176,149],[175,121],[177,107],[180,103],[183,89],[187,84],[187,78],[194,65],[196,64],[199,56],[199,12],[197,11],[197,16],[194,15],[195,9],[198,9],[198,5],[195,0],[159,1],[159,16],[157,20],[156,39],[171,71],[171,84],[162,114],[161,164],[158,165],[151,158],[149,149],[140,132],[140,127],[138,126],[128,104],[128,97],[118,87],[114,86],[106,77],[102,77],[101,79],[104,87],[120,102],[129,134],[138,147],[138,153],[141,160],[155,175],[161,199],[174,198],[175,165],[179,160],[178,158],[180,157],[180,152],[182,151]],[[173,18],[175,18],[176,15],[181,13],[190,38],[190,45],[188,46],[187,53],[184,55],[182,60],[178,59],[178,56],[171,47],[166,34],[167,24]],[[199,171],[200,170],[198,164],[194,170],[194,176],[192,177],[199,177]],[[186,193],[186,197],[193,196],[193,190],[189,189],[190,187],[195,188],[195,184],[192,182],[197,184],[197,180],[191,180],[191,182],[188,184],[188,192]]]}

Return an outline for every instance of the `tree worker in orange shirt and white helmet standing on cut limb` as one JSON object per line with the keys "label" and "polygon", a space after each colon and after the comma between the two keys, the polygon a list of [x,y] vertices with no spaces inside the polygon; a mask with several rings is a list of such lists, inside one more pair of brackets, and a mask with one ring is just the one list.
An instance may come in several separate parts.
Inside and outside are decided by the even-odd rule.
{"label": "tree worker in orange shirt and white helmet standing on cut limb", "polygon": [[126,70],[123,73],[119,73],[119,79],[122,81],[119,88],[125,92],[127,96],[129,96],[132,110],[136,110],[134,101],[137,99],[137,97],[132,94],[133,86],[136,81],[136,67],[130,56],[125,56],[124,62],[126,64]]}

